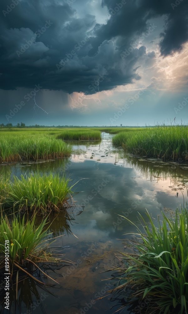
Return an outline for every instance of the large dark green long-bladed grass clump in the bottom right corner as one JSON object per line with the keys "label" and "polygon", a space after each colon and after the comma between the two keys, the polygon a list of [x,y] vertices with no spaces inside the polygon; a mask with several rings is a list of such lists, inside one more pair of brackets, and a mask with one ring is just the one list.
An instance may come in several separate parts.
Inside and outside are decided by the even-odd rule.
{"label": "large dark green long-bladed grass clump in the bottom right corner", "polygon": [[[118,286],[111,290],[114,295],[132,289],[128,304],[135,298],[150,300],[149,313],[183,314],[188,306],[188,211],[176,209],[174,220],[163,214],[158,227],[146,213],[150,227],[139,214],[144,233],[134,225],[137,240],[127,241],[127,245],[138,250],[138,254],[123,254],[128,267],[120,271]],[[148,303],[148,302],[147,302]],[[146,303],[146,304],[147,304]],[[148,308],[147,306],[147,308]]]}

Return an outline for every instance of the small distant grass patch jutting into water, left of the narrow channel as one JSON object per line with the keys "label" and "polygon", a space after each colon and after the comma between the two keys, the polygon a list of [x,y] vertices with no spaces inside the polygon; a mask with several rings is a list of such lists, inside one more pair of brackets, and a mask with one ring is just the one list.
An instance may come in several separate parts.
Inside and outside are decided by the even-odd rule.
{"label": "small distant grass patch jutting into water, left of the narrow channel", "polygon": [[92,129],[69,129],[62,131],[57,138],[80,141],[101,140],[101,132]]}

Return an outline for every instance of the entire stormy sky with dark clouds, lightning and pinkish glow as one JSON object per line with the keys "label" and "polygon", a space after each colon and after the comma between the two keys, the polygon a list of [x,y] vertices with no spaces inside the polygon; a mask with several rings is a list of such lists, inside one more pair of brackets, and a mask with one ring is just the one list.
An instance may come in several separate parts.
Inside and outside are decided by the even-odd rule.
{"label": "entire stormy sky with dark clouds, lightning and pinkish glow", "polygon": [[187,0],[1,0],[0,124],[188,123]]}

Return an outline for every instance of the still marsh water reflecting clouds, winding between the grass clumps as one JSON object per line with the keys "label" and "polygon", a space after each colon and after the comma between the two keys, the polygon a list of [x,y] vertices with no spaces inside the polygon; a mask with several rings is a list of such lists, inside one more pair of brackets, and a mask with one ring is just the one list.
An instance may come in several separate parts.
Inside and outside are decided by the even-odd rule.
{"label": "still marsh water reflecting clouds, winding between the grass clumps", "polygon": [[[73,234],[67,236],[65,232],[53,244],[58,247],[51,248],[76,264],[56,270],[57,274],[50,271],[60,286],[48,288],[45,294],[38,288],[39,297],[44,294],[43,307],[47,314],[113,313],[115,309],[110,307],[114,303],[108,297],[96,299],[105,295],[110,283],[106,279],[112,272],[104,271],[118,264],[119,252],[126,252],[118,239],[131,237],[123,234],[136,231],[118,214],[139,225],[137,212],[144,215],[145,208],[154,218],[162,217],[161,211],[170,216],[188,201],[187,165],[124,155],[122,149],[112,146],[112,135],[102,133],[102,136],[101,143],[71,142],[75,149],[85,152],[68,160],[0,166],[0,170],[17,176],[53,170],[66,173],[73,184],[80,180],[76,184],[76,191],[80,193],[74,197],[75,220],[70,225]],[[54,235],[60,234],[61,219],[58,221],[51,227]],[[26,311],[23,302],[22,313]],[[33,312],[42,313],[41,306],[35,306]]]}

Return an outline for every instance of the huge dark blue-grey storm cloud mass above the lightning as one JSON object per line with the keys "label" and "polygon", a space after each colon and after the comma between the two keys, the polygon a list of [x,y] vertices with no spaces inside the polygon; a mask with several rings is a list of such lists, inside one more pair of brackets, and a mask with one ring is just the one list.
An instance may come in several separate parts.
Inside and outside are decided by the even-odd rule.
{"label": "huge dark blue-grey storm cloud mass above the lightning", "polygon": [[[80,18],[71,1],[1,1],[0,87],[33,89],[40,84],[43,89],[92,94],[139,80],[139,62],[144,59],[149,66],[154,52],[142,46],[123,58],[122,51],[149,30],[149,20],[163,15],[162,55],[187,41],[186,0],[174,8],[171,0],[122,2],[117,10],[117,0],[103,0],[111,16],[107,24],[97,24],[94,12]],[[78,3],[86,5],[76,0],[75,7]]]}

